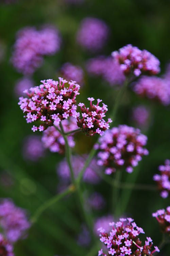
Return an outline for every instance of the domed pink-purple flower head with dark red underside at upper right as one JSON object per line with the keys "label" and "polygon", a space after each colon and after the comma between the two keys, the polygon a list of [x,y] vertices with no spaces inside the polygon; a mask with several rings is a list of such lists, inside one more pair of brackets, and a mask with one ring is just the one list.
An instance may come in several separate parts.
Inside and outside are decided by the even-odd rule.
{"label": "domed pink-purple flower head with dark red underside at upper right", "polygon": [[112,53],[119,60],[121,69],[125,75],[140,74],[155,75],[159,73],[159,60],[147,50],[140,50],[136,46],[128,44]]}

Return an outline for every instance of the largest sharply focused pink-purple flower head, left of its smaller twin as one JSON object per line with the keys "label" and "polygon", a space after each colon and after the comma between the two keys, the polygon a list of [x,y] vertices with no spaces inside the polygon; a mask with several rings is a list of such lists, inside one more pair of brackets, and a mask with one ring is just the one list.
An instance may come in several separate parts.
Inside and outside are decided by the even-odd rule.
{"label": "largest sharply focused pink-purple flower head, left of its smaller twin", "polygon": [[[40,126],[33,126],[35,132],[46,130],[49,126],[58,125],[61,120],[69,116],[77,117],[76,96],[79,94],[80,85],[74,81],[67,82],[61,77],[58,81],[52,79],[41,81],[40,86],[26,90],[28,98],[20,97],[19,105],[27,123],[39,120]],[[68,83],[68,84],[67,84]],[[68,87],[65,87],[67,85]]]}

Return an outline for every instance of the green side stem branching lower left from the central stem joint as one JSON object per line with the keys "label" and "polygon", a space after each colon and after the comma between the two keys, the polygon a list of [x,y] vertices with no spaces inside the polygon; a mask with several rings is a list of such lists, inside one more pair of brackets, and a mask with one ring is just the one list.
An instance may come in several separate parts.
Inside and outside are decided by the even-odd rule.
{"label": "green side stem branching lower left from the central stem joint", "polygon": [[33,217],[31,218],[31,222],[35,223],[41,213],[43,213],[48,207],[53,205],[54,203],[58,202],[61,200],[63,197],[65,197],[68,194],[71,194],[72,192],[75,191],[75,186],[70,185],[68,188],[66,188],[62,193],[50,198],[47,202],[45,202],[43,205],[41,205],[36,212],[34,213]]}

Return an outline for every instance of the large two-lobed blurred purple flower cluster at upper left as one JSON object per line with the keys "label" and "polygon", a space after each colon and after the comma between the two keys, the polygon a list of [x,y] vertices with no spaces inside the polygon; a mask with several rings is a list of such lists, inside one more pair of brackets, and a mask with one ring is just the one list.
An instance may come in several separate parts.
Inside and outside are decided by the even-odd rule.
{"label": "large two-lobed blurred purple flower cluster at upper left", "polygon": [[60,49],[61,38],[57,29],[44,27],[37,31],[26,27],[17,33],[12,56],[14,67],[23,74],[32,74],[43,62],[43,55],[51,55]]}

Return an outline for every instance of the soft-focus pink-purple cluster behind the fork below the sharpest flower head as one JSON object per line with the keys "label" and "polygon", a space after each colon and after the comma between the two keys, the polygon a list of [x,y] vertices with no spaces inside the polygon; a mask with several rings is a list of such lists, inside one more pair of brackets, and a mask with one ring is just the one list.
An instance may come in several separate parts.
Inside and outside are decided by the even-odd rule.
{"label": "soft-focus pink-purple cluster behind the fork below the sharpest flower head", "polygon": [[[78,128],[76,119],[70,117],[70,119],[65,119],[62,121],[62,125],[65,132],[72,131]],[[68,144],[70,147],[74,147],[74,137],[73,133],[68,137]],[[48,127],[47,130],[43,132],[42,142],[44,147],[49,148],[51,152],[57,152],[63,154],[65,152],[65,141],[63,136],[59,131],[55,129],[54,126]]]}

